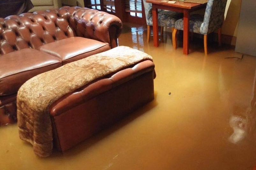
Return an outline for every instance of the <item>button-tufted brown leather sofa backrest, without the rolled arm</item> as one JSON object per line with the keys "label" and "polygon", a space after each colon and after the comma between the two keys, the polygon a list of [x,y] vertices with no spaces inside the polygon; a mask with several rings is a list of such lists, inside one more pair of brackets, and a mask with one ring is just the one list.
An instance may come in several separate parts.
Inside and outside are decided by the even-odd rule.
{"label": "button-tufted brown leather sofa backrest, without the rolled arm", "polygon": [[0,55],[24,48],[37,49],[67,37],[74,37],[73,30],[55,10],[0,18]]}

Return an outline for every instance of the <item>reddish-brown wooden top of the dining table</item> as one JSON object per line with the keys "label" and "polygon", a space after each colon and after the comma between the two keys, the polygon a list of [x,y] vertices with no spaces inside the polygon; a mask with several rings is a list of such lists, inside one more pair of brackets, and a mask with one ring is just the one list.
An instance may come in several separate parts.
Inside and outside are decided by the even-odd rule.
{"label": "reddish-brown wooden top of the dining table", "polygon": [[171,6],[171,7],[179,7],[184,9],[194,9],[198,8],[200,6],[206,5],[206,3],[189,3],[189,2],[183,2],[183,1],[176,1],[176,3],[168,3],[168,2],[161,2],[161,0],[146,0],[147,3],[154,3],[159,5],[165,5],[165,6]]}

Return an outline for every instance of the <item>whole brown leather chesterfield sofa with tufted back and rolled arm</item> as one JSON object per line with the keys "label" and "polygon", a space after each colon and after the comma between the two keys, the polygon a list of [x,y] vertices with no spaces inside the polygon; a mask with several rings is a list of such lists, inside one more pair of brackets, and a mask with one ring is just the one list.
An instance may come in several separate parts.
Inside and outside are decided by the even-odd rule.
{"label": "whole brown leather chesterfield sofa with tufted back and rolled arm", "polygon": [[118,17],[62,7],[0,18],[0,125],[16,122],[16,95],[28,79],[116,47]]}

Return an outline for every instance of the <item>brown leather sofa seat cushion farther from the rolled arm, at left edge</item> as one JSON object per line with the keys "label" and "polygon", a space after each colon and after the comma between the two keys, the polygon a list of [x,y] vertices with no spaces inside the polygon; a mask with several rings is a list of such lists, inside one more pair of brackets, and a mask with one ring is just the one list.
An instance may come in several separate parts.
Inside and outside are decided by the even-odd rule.
{"label": "brown leather sofa seat cushion farther from the rolled arm, at left edge", "polygon": [[26,48],[0,57],[0,96],[18,92],[28,79],[62,66],[61,60],[47,53]]}

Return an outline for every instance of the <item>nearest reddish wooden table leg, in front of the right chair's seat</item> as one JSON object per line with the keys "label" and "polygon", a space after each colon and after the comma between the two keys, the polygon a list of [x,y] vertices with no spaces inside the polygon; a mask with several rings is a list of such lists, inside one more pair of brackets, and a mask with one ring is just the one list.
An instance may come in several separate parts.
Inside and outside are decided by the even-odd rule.
{"label": "nearest reddish wooden table leg, in front of the right chair's seat", "polygon": [[189,54],[189,11],[183,12],[183,54]]}

